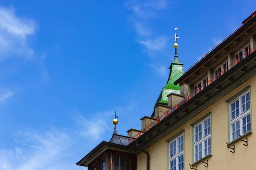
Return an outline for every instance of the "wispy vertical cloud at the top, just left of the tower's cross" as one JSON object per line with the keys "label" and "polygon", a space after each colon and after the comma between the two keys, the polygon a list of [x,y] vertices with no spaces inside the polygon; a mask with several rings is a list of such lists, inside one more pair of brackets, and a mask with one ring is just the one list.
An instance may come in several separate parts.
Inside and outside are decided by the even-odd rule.
{"label": "wispy vertical cloud at the top, just left of the tower's cross", "polygon": [[[143,45],[143,50],[148,56],[157,56],[159,57],[158,60],[165,56],[168,37],[163,34],[155,34],[147,25],[154,24],[152,19],[159,17],[159,11],[168,8],[169,4],[169,0],[129,0],[126,3],[126,7],[132,11],[130,18],[132,18],[131,22],[133,22],[134,30],[138,35],[138,42]],[[159,73],[160,77],[167,75],[166,66],[159,65],[159,61],[157,63],[152,62],[150,66]]]}

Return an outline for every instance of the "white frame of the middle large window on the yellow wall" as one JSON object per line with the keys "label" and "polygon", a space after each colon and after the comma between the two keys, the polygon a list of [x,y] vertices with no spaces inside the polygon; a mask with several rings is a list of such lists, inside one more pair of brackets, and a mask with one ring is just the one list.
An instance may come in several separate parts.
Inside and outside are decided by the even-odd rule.
{"label": "white frame of the middle large window on the yellow wall", "polygon": [[[209,124],[208,124],[208,119],[209,119]],[[205,127],[204,122],[207,122],[207,127],[209,127],[210,132],[205,135],[204,134],[204,130],[207,128]],[[198,133],[196,133],[196,127],[199,127],[199,125],[201,125],[201,139],[199,139],[199,129],[198,129]],[[207,129],[208,132],[208,129]],[[198,134],[198,141],[196,141],[196,134]],[[194,153],[193,153],[193,157],[194,157],[194,162],[199,161],[201,158],[203,159],[205,156],[208,156],[212,153],[212,119],[211,116],[207,116],[206,118],[204,118],[203,120],[201,120],[200,122],[198,122],[196,125],[193,126],[193,146],[194,146]],[[208,140],[209,139],[209,140]],[[205,148],[205,141],[207,141],[207,148]],[[210,142],[210,145],[208,145],[208,141]],[[198,160],[196,159],[196,147],[199,146],[199,144],[201,144],[202,149],[202,157],[198,158]],[[208,147],[210,147],[210,152],[208,150]],[[207,154],[205,149],[207,149]],[[198,156],[199,157],[199,156]]]}

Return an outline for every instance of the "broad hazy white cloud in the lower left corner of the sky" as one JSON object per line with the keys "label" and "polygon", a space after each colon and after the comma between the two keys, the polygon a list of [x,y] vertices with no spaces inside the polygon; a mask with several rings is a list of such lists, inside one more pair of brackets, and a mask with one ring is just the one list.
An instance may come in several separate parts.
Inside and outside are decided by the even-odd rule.
{"label": "broad hazy white cloud in the lower left corner of the sky", "polygon": [[0,149],[0,170],[79,168],[74,160],[70,161],[72,156],[66,153],[70,149],[72,140],[65,132],[49,130],[45,133],[20,133],[16,141],[18,142],[14,149]]}

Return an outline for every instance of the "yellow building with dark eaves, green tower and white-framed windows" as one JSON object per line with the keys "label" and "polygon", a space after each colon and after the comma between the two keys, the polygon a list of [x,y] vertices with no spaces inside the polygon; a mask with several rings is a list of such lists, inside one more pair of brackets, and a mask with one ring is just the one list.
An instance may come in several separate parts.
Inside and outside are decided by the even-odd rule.
{"label": "yellow building with dark eaves, green tower and white-framed windows", "polygon": [[88,170],[256,170],[256,11],[184,73],[174,38],[167,85],[151,116],[141,119],[141,130],[130,129],[128,136],[114,130],[109,142],[77,165]]}

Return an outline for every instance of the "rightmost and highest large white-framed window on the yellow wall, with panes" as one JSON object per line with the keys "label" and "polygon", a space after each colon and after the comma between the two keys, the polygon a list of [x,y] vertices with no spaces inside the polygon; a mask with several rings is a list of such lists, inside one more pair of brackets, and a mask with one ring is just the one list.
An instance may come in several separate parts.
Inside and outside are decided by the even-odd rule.
{"label": "rightmost and highest large white-framed window on the yellow wall, with panes", "polygon": [[247,91],[234,99],[230,107],[230,139],[231,141],[251,131],[250,92]]}

